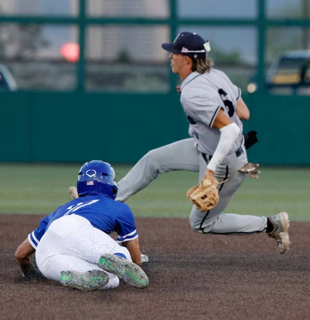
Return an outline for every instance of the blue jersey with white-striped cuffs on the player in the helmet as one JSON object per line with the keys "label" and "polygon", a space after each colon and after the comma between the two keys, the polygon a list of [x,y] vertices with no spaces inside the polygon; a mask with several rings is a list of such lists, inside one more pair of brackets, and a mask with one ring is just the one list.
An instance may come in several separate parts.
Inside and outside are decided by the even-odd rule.
{"label": "blue jersey with white-striped cuffs on the player in the helmet", "polygon": [[73,199],[44,217],[38,228],[28,235],[30,244],[36,249],[49,225],[67,215],[78,215],[87,219],[95,228],[106,234],[118,233],[117,242],[130,241],[138,237],[135,218],[127,204],[109,197],[87,196]]}

